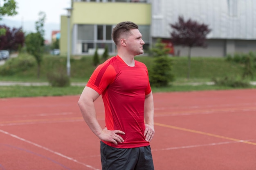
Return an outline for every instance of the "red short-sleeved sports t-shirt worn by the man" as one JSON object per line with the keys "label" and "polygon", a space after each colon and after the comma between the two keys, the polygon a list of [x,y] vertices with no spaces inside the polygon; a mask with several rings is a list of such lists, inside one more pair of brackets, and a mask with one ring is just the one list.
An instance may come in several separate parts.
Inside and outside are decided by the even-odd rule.
{"label": "red short-sleeved sports t-shirt worn by the man", "polygon": [[144,63],[135,61],[128,66],[118,55],[99,65],[87,85],[102,95],[105,107],[105,123],[108,130],[124,131],[123,143],[115,148],[148,146],[144,137],[144,101],[151,92],[148,70]]}

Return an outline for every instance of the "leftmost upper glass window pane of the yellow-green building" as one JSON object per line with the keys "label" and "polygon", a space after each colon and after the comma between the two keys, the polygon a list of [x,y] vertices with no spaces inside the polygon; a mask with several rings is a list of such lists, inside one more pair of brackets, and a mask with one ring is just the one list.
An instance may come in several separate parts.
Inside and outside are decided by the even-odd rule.
{"label": "leftmost upper glass window pane of the yellow-green building", "polygon": [[93,25],[78,25],[77,26],[77,39],[78,40],[93,40],[94,38]]}

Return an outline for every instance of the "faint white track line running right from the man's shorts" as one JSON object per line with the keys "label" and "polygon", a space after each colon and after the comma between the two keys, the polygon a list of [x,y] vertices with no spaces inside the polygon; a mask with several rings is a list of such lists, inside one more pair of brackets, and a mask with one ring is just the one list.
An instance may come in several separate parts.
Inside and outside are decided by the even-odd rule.
{"label": "faint white track line running right from the man's shorts", "polygon": [[215,146],[215,145],[223,145],[223,144],[240,143],[240,142],[243,142],[243,141],[252,141],[252,140],[218,142],[218,143],[201,144],[201,145],[190,145],[190,146],[178,146],[178,147],[171,147],[171,148],[152,149],[152,151],[174,150],[174,149],[186,149],[186,148],[197,148],[197,147],[203,147],[203,146]]}

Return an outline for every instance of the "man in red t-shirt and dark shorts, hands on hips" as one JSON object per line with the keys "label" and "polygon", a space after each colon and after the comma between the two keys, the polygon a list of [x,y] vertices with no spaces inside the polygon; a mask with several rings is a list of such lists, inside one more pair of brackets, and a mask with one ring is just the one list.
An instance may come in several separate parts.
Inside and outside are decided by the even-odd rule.
{"label": "man in red t-shirt and dark shorts, hands on hips", "polygon": [[[143,53],[137,24],[121,22],[112,31],[117,56],[99,65],[78,105],[85,122],[101,139],[103,170],[153,170],[150,149],[154,106],[146,65],[134,57]],[[102,95],[106,127],[96,118],[94,101]]]}

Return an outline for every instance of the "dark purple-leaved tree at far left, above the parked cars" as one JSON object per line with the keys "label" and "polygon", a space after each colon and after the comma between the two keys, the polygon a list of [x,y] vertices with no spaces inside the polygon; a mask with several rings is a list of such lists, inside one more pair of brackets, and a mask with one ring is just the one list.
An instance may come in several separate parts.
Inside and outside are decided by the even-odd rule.
{"label": "dark purple-leaved tree at far left, above the parked cars", "polygon": [[17,51],[23,46],[25,41],[22,28],[12,28],[0,25],[0,29],[5,30],[4,35],[0,35],[0,50]]}

